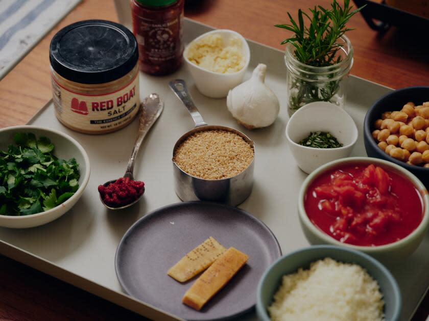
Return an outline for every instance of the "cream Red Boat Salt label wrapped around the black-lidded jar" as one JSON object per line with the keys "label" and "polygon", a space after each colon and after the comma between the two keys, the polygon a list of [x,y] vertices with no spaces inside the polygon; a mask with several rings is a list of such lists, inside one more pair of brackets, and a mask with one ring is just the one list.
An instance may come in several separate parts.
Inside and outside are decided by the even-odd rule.
{"label": "cream Red Boat Salt label wrapped around the black-lidded jar", "polygon": [[138,112],[138,73],[125,87],[111,93],[76,93],[52,77],[53,100],[57,118],[66,126],[85,132],[113,131],[129,123]]}

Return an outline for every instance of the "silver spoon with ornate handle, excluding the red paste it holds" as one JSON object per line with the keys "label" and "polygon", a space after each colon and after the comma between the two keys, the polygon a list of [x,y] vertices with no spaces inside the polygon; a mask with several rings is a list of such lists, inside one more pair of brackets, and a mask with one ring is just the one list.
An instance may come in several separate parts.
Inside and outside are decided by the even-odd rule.
{"label": "silver spoon with ornate handle, excluding the red paste it holds", "polygon": [[[156,122],[158,117],[161,115],[163,109],[164,109],[164,103],[159,98],[158,94],[150,94],[141,103],[140,115],[138,116],[139,126],[137,131],[137,138],[135,139],[134,148],[131,153],[130,160],[128,161],[128,167],[127,167],[127,171],[124,174],[124,177],[128,177],[129,179],[134,180],[134,176],[133,176],[134,162],[138,153],[138,149],[140,148],[141,142],[145,138],[149,129],[151,129],[152,125]],[[105,182],[103,186],[108,186],[109,184],[114,183],[115,181],[116,179],[109,180]],[[131,202],[121,207],[110,207],[104,202],[103,198],[101,197],[101,194],[100,194],[100,200],[103,203],[103,205],[106,206],[108,209],[113,209],[113,210],[124,209],[137,203],[140,200],[140,198],[143,196],[143,194],[145,194],[145,188],[143,188],[143,193],[141,193],[138,199],[136,199],[134,202]]]}

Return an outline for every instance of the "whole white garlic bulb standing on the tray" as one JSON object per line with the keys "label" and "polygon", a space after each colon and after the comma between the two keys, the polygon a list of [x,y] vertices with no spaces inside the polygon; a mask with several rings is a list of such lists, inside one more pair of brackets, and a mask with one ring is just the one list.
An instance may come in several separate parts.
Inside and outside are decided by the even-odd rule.
{"label": "whole white garlic bulb standing on the tray", "polygon": [[258,64],[252,77],[230,90],[226,105],[232,116],[248,129],[270,126],[277,118],[280,104],[265,85],[267,66]]}

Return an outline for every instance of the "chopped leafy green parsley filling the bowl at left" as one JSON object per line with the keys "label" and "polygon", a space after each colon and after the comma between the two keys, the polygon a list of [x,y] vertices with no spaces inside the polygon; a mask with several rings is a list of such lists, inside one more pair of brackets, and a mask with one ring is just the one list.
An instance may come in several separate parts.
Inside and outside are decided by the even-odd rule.
{"label": "chopped leafy green parsley filling the bowl at left", "polygon": [[0,215],[39,213],[63,203],[79,188],[79,164],[52,154],[49,138],[18,132],[0,150]]}

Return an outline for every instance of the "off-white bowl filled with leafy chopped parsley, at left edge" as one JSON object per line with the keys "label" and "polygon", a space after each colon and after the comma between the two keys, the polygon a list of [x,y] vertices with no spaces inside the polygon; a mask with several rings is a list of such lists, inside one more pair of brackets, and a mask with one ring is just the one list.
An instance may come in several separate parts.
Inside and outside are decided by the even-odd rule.
{"label": "off-white bowl filled with leafy chopped parsley, at left edge", "polygon": [[37,126],[0,129],[0,226],[52,222],[82,196],[89,158],[64,133]]}

